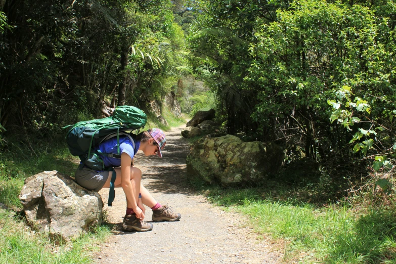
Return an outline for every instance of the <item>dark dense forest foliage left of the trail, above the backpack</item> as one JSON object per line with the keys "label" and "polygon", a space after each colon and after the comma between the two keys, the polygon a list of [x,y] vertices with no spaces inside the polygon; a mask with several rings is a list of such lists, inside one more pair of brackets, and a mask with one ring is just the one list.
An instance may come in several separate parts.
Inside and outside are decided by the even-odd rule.
{"label": "dark dense forest foliage left of the trail, above the backpack", "polygon": [[1,9],[8,130],[43,133],[79,113],[99,116],[104,104],[144,107],[163,99],[185,63],[184,32],[166,0],[7,0]]}

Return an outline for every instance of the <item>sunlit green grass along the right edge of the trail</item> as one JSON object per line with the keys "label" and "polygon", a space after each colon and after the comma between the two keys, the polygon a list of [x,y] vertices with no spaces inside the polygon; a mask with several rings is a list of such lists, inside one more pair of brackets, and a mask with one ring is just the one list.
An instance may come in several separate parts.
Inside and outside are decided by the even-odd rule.
{"label": "sunlit green grass along the right edge of the trail", "polygon": [[[294,198],[274,197],[283,187],[222,189],[210,187],[209,200],[245,214],[259,235],[282,239],[286,263],[396,263],[395,204],[318,206]],[[280,191],[282,193],[282,191]]]}

